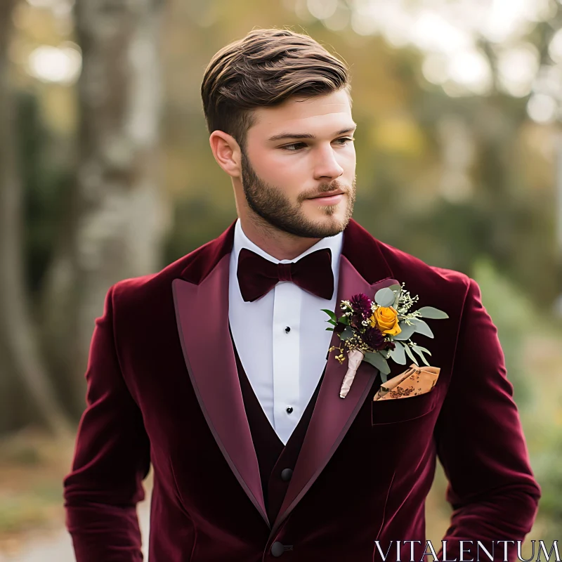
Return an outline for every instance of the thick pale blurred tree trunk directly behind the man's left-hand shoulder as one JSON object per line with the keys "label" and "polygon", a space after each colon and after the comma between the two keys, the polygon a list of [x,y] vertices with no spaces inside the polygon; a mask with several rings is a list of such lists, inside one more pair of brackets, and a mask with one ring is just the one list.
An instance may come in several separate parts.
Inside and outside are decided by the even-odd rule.
{"label": "thick pale blurred tree trunk directly behind the man's left-hand shoulder", "polygon": [[46,343],[74,415],[84,410],[83,373],[107,289],[160,266],[168,215],[157,150],[159,4],[75,4],[83,56],[77,180],[44,299]]}

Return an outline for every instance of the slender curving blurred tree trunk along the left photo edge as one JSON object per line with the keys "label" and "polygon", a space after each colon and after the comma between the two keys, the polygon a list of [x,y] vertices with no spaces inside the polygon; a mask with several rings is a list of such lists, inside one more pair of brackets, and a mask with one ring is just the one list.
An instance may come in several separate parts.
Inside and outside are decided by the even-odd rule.
{"label": "slender curving blurred tree trunk along the left photo edge", "polygon": [[[65,415],[44,368],[37,344],[37,326],[30,313],[23,267],[22,198],[15,127],[15,103],[8,78],[8,44],[15,0],[0,4],[0,409],[11,412],[22,390],[31,398],[37,417],[58,437],[69,433]],[[19,380],[18,380],[19,379]],[[19,384],[18,384],[19,383]],[[17,403],[17,400],[15,400]],[[9,419],[10,415],[12,419]],[[11,412],[4,428],[15,429]],[[17,419],[17,424],[25,423]]]}

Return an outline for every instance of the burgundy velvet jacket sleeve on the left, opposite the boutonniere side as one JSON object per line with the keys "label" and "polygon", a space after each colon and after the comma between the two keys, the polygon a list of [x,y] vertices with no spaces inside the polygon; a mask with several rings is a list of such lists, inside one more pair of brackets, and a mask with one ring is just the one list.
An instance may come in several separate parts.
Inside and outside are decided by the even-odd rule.
{"label": "burgundy velvet jacket sleeve on the left, opposite the boutonniere side", "polygon": [[65,476],[66,525],[77,562],[140,562],[136,504],[145,497],[150,445],[141,411],[119,368],[113,330],[113,290],[96,318],[86,368],[72,471]]}

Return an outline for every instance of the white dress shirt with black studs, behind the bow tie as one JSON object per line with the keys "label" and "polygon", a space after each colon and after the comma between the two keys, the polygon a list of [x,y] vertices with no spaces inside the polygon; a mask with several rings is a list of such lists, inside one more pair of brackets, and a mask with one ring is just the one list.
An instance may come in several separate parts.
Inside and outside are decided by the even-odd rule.
{"label": "white dress shirt with black studs, behind the bow tie", "polygon": [[[228,320],[244,371],[275,433],[286,445],[310,402],[326,365],[333,332],[322,308],[335,310],[339,258],[344,233],[322,238],[295,259],[278,260],[256,246],[236,221],[230,254]],[[332,299],[315,296],[292,281],[280,281],[266,295],[246,302],[240,294],[238,254],[248,248],[273,263],[299,261],[322,248],[332,250],[334,294]],[[285,332],[289,327],[290,331]],[[287,412],[287,408],[292,408]]]}

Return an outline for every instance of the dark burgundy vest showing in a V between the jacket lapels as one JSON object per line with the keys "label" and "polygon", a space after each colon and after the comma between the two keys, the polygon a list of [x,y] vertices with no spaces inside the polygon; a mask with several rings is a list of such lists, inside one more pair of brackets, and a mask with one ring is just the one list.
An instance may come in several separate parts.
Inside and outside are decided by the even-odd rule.
{"label": "dark burgundy vest showing in a V between the jacket lapels", "polygon": [[[230,326],[229,326],[230,329]],[[301,445],[308,424],[311,421],[312,412],[318,398],[320,385],[324,379],[326,368],[322,372],[322,377],[318,381],[318,385],[313,396],[308,402],[299,423],[289,436],[287,445],[283,445],[275,429],[271,426],[268,417],[259,403],[254,389],[248,380],[242,362],[238,356],[232,332],[230,339],[233,341],[233,348],[236,357],[236,365],[238,369],[238,378],[240,379],[240,388],[242,389],[242,398],[244,399],[244,407],[250,426],[251,438],[254,441],[256,456],[258,457],[259,473],[261,477],[261,488],[263,490],[263,501],[266,504],[266,511],[269,521],[275,521],[277,512],[280,510],[285,499],[289,481],[291,480],[292,471],[299,457]]]}

